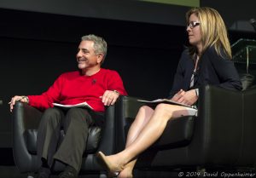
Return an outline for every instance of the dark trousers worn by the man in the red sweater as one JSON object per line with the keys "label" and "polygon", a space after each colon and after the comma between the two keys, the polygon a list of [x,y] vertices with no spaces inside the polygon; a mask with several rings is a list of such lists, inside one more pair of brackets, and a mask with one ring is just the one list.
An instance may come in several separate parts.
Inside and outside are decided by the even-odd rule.
{"label": "dark trousers worn by the man in the red sweater", "polygon": [[[104,116],[102,112],[92,112],[84,108],[47,109],[41,119],[38,129],[38,157],[44,159],[49,167],[54,160],[73,166],[78,172],[88,138],[88,129],[91,125],[102,126]],[[61,145],[61,129],[65,136]]]}

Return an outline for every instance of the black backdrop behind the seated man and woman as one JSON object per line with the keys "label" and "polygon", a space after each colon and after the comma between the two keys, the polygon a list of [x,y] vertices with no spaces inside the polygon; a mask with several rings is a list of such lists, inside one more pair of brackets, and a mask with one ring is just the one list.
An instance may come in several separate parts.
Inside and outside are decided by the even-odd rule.
{"label": "black backdrop behind the seated man and woman", "polygon": [[[253,31],[230,28],[229,33],[231,43],[256,39]],[[75,55],[86,34],[108,42],[102,67],[119,72],[129,95],[168,95],[187,43],[184,25],[0,9],[0,164],[14,164],[10,98],[41,94],[62,72],[76,70]]]}

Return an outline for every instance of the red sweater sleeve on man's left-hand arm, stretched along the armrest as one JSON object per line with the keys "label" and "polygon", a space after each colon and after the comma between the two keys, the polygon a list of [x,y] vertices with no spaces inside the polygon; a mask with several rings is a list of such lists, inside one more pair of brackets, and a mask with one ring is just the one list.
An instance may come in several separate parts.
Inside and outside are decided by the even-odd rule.
{"label": "red sweater sleeve on man's left-hand arm, stretched along the armrest", "polygon": [[28,95],[29,105],[45,110],[52,107],[53,102],[59,102],[61,86],[64,83],[63,74],[42,95]]}

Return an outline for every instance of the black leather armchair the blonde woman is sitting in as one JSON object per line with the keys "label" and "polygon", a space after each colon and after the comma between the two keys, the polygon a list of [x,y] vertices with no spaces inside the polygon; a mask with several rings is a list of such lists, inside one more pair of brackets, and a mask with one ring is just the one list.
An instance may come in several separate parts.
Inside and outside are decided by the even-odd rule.
{"label": "black leather armchair the blonde woman is sitting in", "polygon": [[[233,91],[207,85],[200,89],[198,118],[169,121],[136,169],[254,169],[256,164],[256,89]],[[125,147],[127,130],[143,104],[122,96],[115,117],[118,151]]]}

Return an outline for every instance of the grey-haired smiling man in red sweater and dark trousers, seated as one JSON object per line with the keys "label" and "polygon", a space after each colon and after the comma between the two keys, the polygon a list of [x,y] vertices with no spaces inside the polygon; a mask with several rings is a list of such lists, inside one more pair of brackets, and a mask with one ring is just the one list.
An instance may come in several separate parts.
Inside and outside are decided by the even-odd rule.
{"label": "grey-haired smiling man in red sweater and dark trousers, seated", "polygon": [[[67,165],[60,178],[77,177],[88,128],[93,124],[101,126],[104,106],[113,105],[119,95],[127,95],[119,73],[101,68],[106,55],[107,43],[102,37],[84,36],[77,54],[78,71],[61,74],[42,95],[15,95],[10,101],[11,112],[16,100],[45,110],[38,129],[38,156],[42,160],[39,178],[49,177],[55,159]],[[84,101],[92,109],[73,107],[63,111],[53,107],[53,103],[75,105]],[[66,135],[55,151],[61,128]]]}

